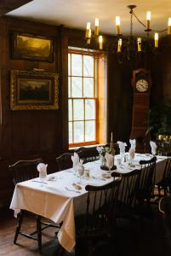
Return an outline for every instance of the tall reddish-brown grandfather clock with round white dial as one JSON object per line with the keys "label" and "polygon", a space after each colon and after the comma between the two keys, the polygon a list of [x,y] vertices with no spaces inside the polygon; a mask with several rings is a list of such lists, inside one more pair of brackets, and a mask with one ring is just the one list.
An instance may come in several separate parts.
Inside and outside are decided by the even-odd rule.
{"label": "tall reddish-brown grandfather clock with round white dial", "polygon": [[[147,116],[150,108],[151,73],[145,68],[133,70],[131,81],[133,87],[132,130],[131,138],[136,138],[136,150],[144,152],[149,148]],[[147,147],[147,148],[146,148]]]}

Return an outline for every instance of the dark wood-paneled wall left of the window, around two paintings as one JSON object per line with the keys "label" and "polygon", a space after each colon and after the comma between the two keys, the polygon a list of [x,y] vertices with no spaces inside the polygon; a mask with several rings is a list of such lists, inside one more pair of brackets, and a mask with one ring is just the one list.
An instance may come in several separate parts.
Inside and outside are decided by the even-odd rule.
{"label": "dark wood-paneled wall left of the window, around two paintings", "polygon": [[[13,184],[9,164],[20,159],[41,156],[48,163],[48,172],[55,171],[55,156],[67,148],[67,38],[60,26],[48,26],[26,20],[0,20],[1,54],[1,124],[0,124],[0,207],[10,199]],[[13,60],[11,36],[13,32],[54,38],[54,62]],[[10,70],[32,70],[60,74],[60,108],[58,110],[10,110]],[[63,100],[64,99],[64,100]],[[65,135],[65,136],[64,136]]]}

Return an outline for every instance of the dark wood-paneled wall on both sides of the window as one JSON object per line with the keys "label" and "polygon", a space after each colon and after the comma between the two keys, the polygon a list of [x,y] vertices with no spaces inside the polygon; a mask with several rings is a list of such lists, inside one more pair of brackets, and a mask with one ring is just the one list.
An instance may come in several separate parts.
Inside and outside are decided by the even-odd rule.
{"label": "dark wood-paneled wall on both sides of the window", "polygon": [[[11,18],[0,19],[0,207],[11,199],[13,184],[9,164],[20,159],[42,157],[48,172],[55,171],[55,156],[68,149],[67,106],[67,49],[69,46],[86,48],[84,32],[62,26]],[[25,32],[54,38],[54,62],[13,60],[11,33]],[[93,46],[95,48],[95,45]],[[118,64],[117,55],[107,58],[107,136],[113,131],[114,141],[128,141],[131,131],[132,87],[134,68],[151,69],[153,86],[151,105],[168,102],[171,96],[171,51],[154,60],[140,64],[126,61]],[[11,111],[9,108],[9,74],[11,69],[43,68],[60,74],[60,108],[50,111]]]}

